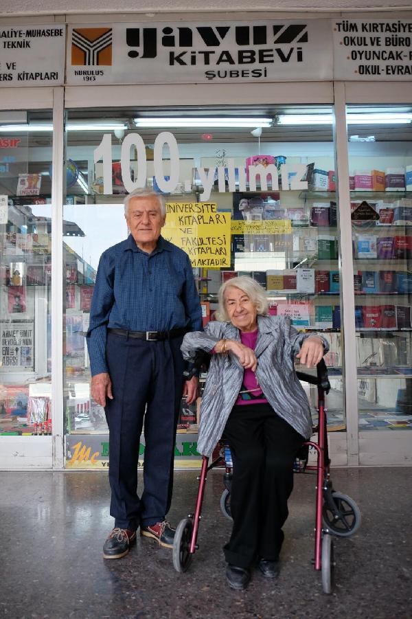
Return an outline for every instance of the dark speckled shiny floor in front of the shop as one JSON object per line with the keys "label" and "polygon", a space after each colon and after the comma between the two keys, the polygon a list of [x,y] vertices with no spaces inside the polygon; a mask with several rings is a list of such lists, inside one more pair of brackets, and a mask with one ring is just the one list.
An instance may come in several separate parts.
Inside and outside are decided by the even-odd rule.
{"label": "dark speckled shiny floor in front of the shop", "polygon": [[[172,524],[194,509],[196,475],[176,472]],[[209,473],[200,548],[185,574],[150,539],[124,559],[102,559],[113,526],[107,473],[1,472],[0,617],[410,619],[412,469],[334,469],[332,479],[363,521],[336,540],[336,584],[325,596],[310,563],[312,475],[295,475],[279,579],[254,572],[246,592],[233,592],[221,550],[231,526],[220,513],[221,471]]]}

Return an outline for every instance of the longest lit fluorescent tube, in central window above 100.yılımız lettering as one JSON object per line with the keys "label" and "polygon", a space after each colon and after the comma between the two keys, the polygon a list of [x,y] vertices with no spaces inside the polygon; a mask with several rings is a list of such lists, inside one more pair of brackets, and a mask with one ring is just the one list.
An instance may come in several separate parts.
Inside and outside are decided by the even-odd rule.
{"label": "longest lit fluorescent tube, in central window above 100.y\u0131l\u0131m\u0131z lettering", "polygon": [[135,118],[137,127],[146,128],[233,128],[233,127],[270,127],[271,118],[257,116],[247,117],[146,117]]}

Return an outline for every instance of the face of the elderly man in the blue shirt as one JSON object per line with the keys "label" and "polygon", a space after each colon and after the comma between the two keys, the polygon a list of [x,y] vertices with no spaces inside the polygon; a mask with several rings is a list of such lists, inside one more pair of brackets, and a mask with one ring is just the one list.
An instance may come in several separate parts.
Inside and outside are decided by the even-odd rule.
{"label": "face of the elderly man in the blue shirt", "polygon": [[126,221],[137,247],[144,251],[155,249],[165,223],[155,196],[130,200]]}

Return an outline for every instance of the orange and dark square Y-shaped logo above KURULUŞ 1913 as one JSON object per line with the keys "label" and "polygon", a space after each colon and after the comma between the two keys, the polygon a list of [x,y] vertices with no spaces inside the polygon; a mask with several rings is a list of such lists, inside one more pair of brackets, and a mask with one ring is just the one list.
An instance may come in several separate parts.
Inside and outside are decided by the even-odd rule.
{"label": "orange and dark square Y-shaped logo above KURULU\u015e 1913", "polygon": [[111,28],[76,28],[71,34],[72,65],[111,65]]}

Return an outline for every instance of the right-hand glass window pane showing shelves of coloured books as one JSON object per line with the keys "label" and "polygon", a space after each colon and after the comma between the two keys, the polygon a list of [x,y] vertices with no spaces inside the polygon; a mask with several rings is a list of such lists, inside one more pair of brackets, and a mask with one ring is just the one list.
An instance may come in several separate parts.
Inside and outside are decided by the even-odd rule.
{"label": "right-hand glass window pane showing shelves of coloured books", "polygon": [[412,428],[412,107],[350,106],[359,429]]}

